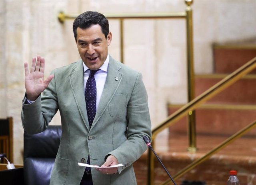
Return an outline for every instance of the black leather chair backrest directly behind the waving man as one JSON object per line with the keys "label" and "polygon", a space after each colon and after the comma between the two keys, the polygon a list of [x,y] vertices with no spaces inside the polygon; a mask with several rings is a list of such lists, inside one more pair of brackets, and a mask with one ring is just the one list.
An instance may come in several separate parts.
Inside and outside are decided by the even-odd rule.
{"label": "black leather chair backrest directly behind the waving man", "polygon": [[39,134],[24,132],[24,182],[49,185],[61,138],[61,126],[48,126]]}

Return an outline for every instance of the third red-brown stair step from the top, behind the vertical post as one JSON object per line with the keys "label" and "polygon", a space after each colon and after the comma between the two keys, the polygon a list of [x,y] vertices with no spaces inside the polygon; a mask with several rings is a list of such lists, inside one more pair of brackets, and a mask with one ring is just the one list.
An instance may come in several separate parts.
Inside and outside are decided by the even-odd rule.
{"label": "third red-brown stair step from the top, behind the vertical post", "polygon": [[[171,115],[182,105],[168,105],[168,115]],[[230,136],[256,120],[255,105],[203,104],[196,108],[196,132]],[[170,127],[171,133],[187,132],[187,116],[181,118]],[[256,129],[246,133],[247,137],[256,137]]]}

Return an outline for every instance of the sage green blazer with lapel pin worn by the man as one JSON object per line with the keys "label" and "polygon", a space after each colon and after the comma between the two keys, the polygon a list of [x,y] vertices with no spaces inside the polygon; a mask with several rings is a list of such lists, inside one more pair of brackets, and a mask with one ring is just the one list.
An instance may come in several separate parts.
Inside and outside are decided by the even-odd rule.
{"label": "sage green blazer with lapel pin worn by the man", "polygon": [[[24,130],[36,134],[47,129],[60,110],[62,137],[50,185],[79,185],[90,154],[92,165],[114,155],[124,166],[105,175],[92,168],[94,185],[136,185],[132,163],[147,149],[151,138],[148,98],[141,73],[110,57],[108,75],[90,129],[83,89],[82,60],[55,69],[48,88],[31,104],[22,106]],[[25,98],[24,98],[25,100]],[[49,138],[50,139],[50,138]]]}

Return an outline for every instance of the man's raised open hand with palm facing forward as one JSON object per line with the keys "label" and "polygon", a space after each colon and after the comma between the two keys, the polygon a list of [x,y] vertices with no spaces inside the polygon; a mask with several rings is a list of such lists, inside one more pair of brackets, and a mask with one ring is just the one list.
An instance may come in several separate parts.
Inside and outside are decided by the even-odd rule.
{"label": "man's raised open hand with palm facing forward", "polygon": [[28,63],[24,63],[25,89],[28,100],[36,100],[54,77],[54,75],[50,75],[47,79],[44,79],[44,64],[44,58],[40,56],[33,57],[29,72]]}

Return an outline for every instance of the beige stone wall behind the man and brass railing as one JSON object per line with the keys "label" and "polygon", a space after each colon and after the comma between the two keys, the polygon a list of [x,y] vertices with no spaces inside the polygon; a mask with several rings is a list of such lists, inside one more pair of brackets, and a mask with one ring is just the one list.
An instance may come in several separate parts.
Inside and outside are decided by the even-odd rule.
{"label": "beige stone wall behind the man and brass railing", "polygon": [[[23,163],[24,61],[44,56],[48,75],[79,59],[72,20],[60,24],[58,12],[183,12],[185,8],[184,0],[1,0],[0,117],[14,118],[14,163]],[[256,38],[255,0],[194,0],[192,9],[196,73],[212,73],[212,43]],[[117,21],[110,21],[113,41],[109,52],[119,60],[118,26]],[[142,72],[152,125],[156,126],[166,118],[168,102],[187,101],[185,22],[127,20],[124,30],[124,62]],[[60,124],[58,114],[52,124]]]}

